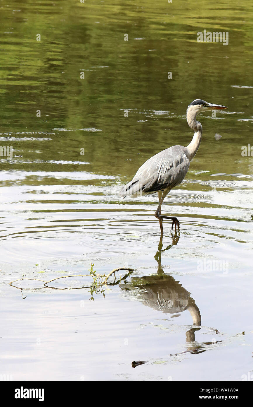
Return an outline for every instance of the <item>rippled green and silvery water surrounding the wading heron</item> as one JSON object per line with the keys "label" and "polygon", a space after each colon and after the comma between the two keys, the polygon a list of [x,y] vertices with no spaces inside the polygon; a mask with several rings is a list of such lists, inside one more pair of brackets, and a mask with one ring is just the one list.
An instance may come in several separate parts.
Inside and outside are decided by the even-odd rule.
{"label": "rippled green and silvery water surrounding the wading heron", "polygon": [[[253,158],[242,156],[252,143],[253,5],[0,6],[0,144],[13,148],[0,157],[0,374],[241,380],[253,369]],[[198,43],[204,29],[228,32],[229,44]],[[196,98],[228,109],[199,115],[199,151],[163,204],[181,234],[164,221],[160,241],[158,197],[123,200],[119,186],[151,155],[190,142]],[[91,263],[101,274],[134,271],[94,301],[88,288],[9,285],[89,274]]]}

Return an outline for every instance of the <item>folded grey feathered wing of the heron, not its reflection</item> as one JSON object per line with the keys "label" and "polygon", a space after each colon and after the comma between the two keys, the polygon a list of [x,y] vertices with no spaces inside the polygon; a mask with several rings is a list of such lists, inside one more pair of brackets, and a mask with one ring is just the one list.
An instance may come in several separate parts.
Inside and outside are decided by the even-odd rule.
{"label": "folded grey feathered wing of the heron, not its reflection", "polygon": [[134,178],[120,191],[121,196],[151,194],[174,188],[184,179],[190,166],[186,148],[173,146],[149,158]]}

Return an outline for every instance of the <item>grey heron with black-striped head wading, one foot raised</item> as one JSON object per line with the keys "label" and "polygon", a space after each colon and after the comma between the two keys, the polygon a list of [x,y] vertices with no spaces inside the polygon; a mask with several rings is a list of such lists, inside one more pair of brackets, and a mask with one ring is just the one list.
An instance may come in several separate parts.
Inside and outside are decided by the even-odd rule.
{"label": "grey heron with black-striped head wading, one foot raised", "polygon": [[194,135],[188,146],[172,146],[166,150],[149,158],[136,172],[132,181],[124,185],[120,190],[120,195],[126,197],[138,197],[158,193],[159,205],[155,212],[155,217],[159,220],[161,234],[163,234],[162,220],[171,219],[175,224],[175,232],[179,221],[174,216],[164,216],[161,214],[161,206],[164,198],[169,194],[171,188],[175,188],[184,177],[190,166],[190,161],[197,153],[202,136],[201,123],[196,120],[197,114],[208,110],[227,109],[226,106],[214,105],[202,99],[195,99],[190,103],[186,112],[186,120]]}

